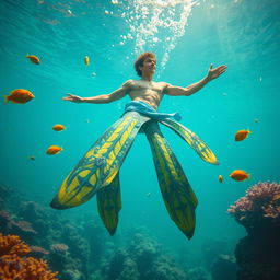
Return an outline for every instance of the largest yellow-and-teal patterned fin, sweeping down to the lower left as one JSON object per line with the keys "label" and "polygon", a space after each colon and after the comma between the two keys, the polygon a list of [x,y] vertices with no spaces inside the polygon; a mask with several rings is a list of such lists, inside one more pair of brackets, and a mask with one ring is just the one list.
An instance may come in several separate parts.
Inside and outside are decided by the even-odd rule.
{"label": "largest yellow-and-teal patterned fin, sweeping down to the lower left", "polygon": [[118,173],[139,129],[150,118],[126,113],[103,133],[67,176],[50,206],[67,209],[80,206],[109,185]]}

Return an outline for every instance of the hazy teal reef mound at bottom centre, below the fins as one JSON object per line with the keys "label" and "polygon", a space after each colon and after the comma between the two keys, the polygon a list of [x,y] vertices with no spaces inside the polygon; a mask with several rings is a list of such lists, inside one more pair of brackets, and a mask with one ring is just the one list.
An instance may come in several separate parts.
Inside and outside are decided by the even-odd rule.
{"label": "hazy teal reef mound at bottom centre, below the fins", "polygon": [[186,279],[174,258],[142,233],[136,233],[127,247],[117,249],[110,261],[103,264],[102,275],[115,280]]}

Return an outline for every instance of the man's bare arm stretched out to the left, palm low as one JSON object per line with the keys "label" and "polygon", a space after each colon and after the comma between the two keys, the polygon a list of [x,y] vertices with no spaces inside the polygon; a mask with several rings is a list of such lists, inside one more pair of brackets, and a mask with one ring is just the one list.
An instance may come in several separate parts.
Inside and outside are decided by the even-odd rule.
{"label": "man's bare arm stretched out to the left, palm low", "polygon": [[117,100],[120,100],[126,96],[126,94],[129,91],[129,84],[130,80],[125,82],[121,88],[117,89],[116,91],[109,93],[109,94],[102,94],[102,95],[96,95],[92,97],[81,97],[78,95],[73,95],[71,93],[67,93],[67,97],[63,97],[63,101],[71,101],[74,103],[94,103],[94,104],[105,104],[105,103],[110,103]]}

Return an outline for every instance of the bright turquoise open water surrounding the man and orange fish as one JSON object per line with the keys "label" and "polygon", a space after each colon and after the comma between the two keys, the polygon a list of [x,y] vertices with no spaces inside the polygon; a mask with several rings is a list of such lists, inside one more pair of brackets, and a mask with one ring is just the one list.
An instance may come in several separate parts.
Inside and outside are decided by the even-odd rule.
{"label": "bright turquoise open water surrounding the man and orange fish", "polygon": [[[280,5],[273,0],[198,1],[184,12],[183,4],[162,2],[0,2],[1,93],[21,88],[36,96],[25,105],[0,105],[0,183],[48,206],[66,175],[129,101],[93,105],[61,97],[106,94],[128,79],[138,79],[132,65],[140,52],[158,55],[154,80],[179,86],[202,79],[210,63],[226,65],[228,71],[200,92],[165,96],[160,106],[162,112],[178,110],[182,124],[200,136],[220,161],[219,166],[202,162],[173,131],[162,128],[199,199],[195,236],[187,241],[168,218],[143,135],[137,137],[120,170],[122,210],[117,234],[132,225],[144,226],[165,247],[174,252],[186,247],[198,255],[207,240],[226,241],[234,247],[245,230],[226,213],[230,205],[258,182],[280,180]],[[163,26],[161,20],[172,24]],[[150,34],[140,30],[141,23]],[[38,56],[42,63],[31,63],[26,54]],[[55,124],[67,130],[54,131]],[[235,142],[240,129],[252,135]],[[46,155],[51,144],[63,151]],[[236,168],[252,174],[250,179],[232,180],[229,174]],[[219,175],[224,176],[223,184]],[[65,212],[96,215],[95,198]]]}

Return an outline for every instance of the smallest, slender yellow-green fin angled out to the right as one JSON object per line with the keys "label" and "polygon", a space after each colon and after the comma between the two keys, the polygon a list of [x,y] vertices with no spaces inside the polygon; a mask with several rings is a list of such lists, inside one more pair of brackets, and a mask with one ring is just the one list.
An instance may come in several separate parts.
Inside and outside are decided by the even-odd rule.
{"label": "smallest, slender yellow-green fin angled out to the right", "polygon": [[166,127],[170,127],[174,130],[178,136],[180,136],[197,153],[198,155],[206,162],[218,165],[219,162],[214,155],[214,153],[210,150],[209,147],[191,130],[184,127],[179,122],[173,119],[164,119],[161,121]]}

